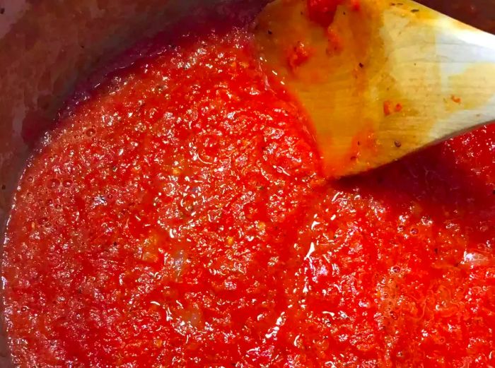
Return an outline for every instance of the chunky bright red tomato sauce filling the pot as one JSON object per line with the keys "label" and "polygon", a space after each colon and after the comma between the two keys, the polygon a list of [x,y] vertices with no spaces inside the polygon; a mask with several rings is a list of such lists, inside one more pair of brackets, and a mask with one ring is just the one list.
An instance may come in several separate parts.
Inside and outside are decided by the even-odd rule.
{"label": "chunky bright red tomato sauce filling the pot", "polygon": [[329,182],[305,114],[223,24],[130,52],[28,163],[3,263],[14,362],[495,366],[494,126]]}

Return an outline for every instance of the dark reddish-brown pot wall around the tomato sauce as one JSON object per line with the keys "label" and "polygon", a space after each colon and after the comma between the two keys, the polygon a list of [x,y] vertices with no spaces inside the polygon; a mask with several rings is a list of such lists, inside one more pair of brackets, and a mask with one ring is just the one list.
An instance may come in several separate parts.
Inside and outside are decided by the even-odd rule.
{"label": "dark reddish-brown pot wall around the tomato sauce", "polygon": [[[76,82],[166,23],[221,1],[228,0],[0,0],[1,232],[30,145]],[[495,0],[421,2],[495,32]]]}

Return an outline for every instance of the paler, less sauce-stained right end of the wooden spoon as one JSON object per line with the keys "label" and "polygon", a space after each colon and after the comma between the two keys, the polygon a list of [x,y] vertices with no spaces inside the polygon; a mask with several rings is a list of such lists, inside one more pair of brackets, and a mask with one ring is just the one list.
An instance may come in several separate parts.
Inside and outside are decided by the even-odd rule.
{"label": "paler, less sauce-stained right end of the wooden spoon", "polygon": [[[385,12],[382,32],[390,35],[398,85],[423,107],[410,122],[424,133],[418,143],[436,143],[495,119],[495,36],[414,1],[401,4]],[[421,79],[429,74],[435,76]]]}

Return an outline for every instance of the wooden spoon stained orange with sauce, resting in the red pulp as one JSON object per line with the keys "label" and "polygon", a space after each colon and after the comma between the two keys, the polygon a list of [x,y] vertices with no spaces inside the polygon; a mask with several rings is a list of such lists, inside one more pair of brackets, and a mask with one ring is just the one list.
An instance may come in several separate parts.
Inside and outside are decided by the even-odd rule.
{"label": "wooden spoon stained orange with sauce, resting in the red pulp", "polygon": [[255,42],[307,110],[333,177],[495,119],[495,36],[414,1],[354,0],[323,27],[306,0],[276,0]]}

